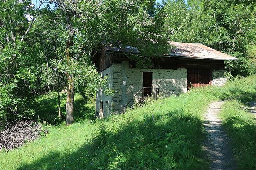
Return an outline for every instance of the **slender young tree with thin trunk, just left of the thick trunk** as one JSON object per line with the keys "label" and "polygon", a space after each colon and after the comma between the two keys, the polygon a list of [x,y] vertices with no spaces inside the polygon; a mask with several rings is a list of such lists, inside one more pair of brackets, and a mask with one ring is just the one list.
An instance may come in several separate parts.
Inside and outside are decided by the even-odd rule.
{"label": "slender young tree with thin trunk, just left of the thick trunk", "polygon": [[64,27],[56,23],[62,23],[64,19],[57,10],[44,8],[32,28],[33,37],[39,43],[45,61],[40,67],[41,84],[43,87],[47,86],[48,90],[58,92],[58,116],[60,119],[63,118],[60,111],[60,96],[66,82],[65,74],[58,68],[58,63],[64,58],[62,51],[65,49],[65,41],[61,38]]}

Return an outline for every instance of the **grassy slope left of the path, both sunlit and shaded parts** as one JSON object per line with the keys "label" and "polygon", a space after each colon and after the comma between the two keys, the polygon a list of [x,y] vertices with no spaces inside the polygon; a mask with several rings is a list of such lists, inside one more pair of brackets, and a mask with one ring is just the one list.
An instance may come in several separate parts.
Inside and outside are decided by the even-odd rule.
{"label": "grassy slope left of the path, both sunlit and shaded parts", "polygon": [[96,123],[50,127],[50,134],[0,153],[0,169],[206,169],[202,115],[212,100],[252,101],[256,76],[179,97]]}

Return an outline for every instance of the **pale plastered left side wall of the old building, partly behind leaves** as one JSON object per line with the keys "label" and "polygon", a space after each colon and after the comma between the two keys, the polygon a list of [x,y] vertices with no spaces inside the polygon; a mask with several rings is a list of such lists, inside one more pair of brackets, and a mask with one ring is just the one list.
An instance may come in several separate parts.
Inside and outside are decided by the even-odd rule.
{"label": "pale plastered left side wall of the old building, partly behind leaves", "polygon": [[[99,73],[102,77],[108,76],[108,86],[113,88],[113,65]],[[99,118],[105,117],[111,112],[112,96],[106,96],[102,90],[96,94],[96,115]],[[100,112],[102,109],[102,112]]]}

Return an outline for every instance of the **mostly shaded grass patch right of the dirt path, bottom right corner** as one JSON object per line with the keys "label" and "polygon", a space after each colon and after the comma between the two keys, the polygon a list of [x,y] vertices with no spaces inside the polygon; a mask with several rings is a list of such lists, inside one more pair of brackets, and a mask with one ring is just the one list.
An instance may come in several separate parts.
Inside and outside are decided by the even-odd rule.
{"label": "mostly shaded grass patch right of the dirt path, bottom right corner", "polygon": [[239,169],[255,169],[256,164],[256,125],[253,122],[229,117],[223,127],[232,138],[231,143]]}

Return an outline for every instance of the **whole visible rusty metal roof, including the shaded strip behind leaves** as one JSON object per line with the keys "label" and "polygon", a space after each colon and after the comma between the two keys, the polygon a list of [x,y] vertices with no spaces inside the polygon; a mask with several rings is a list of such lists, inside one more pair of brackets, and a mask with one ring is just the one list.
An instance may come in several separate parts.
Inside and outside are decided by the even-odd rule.
{"label": "whole visible rusty metal roof, including the shaded strip behind leaves", "polygon": [[[178,43],[169,42],[173,49],[164,57],[194,58],[194,59],[213,59],[213,60],[237,60],[237,58],[197,43]],[[127,46],[126,48],[104,46],[105,51],[117,51],[124,53],[139,53],[137,48]]]}

